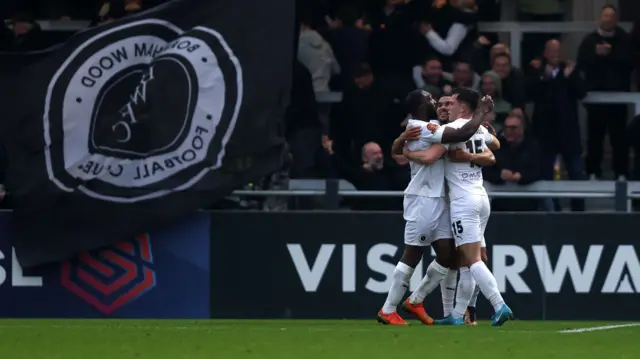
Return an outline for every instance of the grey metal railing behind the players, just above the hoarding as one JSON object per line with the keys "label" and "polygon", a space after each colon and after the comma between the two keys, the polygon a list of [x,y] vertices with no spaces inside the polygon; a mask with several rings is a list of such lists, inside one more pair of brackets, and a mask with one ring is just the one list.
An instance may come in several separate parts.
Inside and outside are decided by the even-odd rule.
{"label": "grey metal railing behind the players, just above the hoarding", "polygon": [[[337,208],[342,197],[402,197],[402,191],[359,191],[345,180],[291,180],[289,190],[241,190],[238,196],[324,196],[329,209]],[[491,198],[571,198],[611,199],[618,212],[631,212],[631,200],[640,199],[640,182],[626,181],[539,181],[530,185],[492,185],[485,182]]]}

